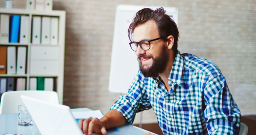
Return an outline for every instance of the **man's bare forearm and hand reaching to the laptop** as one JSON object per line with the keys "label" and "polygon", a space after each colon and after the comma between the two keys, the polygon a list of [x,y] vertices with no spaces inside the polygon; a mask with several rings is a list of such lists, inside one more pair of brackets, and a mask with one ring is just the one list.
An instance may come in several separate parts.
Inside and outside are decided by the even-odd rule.
{"label": "man's bare forearm and hand reaching to the laptop", "polygon": [[106,129],[120,127],[127,122],[126,118],[117,110],[110,110],[100,120],[98,118],[88,118],[79,120],[79,127],[84,134],[92,135],[92,132],[106,134]]}

